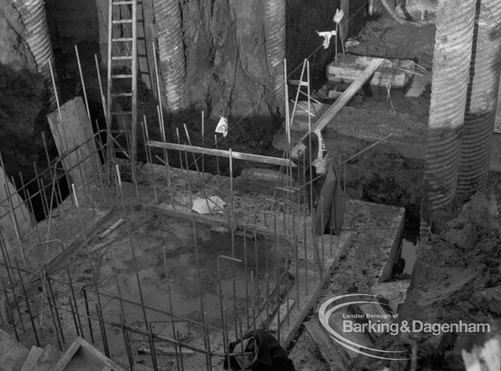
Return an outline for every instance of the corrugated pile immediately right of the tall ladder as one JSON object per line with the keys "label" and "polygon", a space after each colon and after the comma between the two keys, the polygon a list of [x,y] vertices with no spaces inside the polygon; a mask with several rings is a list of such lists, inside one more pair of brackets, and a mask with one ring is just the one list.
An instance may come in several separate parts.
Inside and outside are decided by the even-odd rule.
{"label": "corrugated pile immediately right of the tall ladder", "polygon": [[158,30],[158,59],[165,97],[171,111],[177,111],[181,108],[186,78],[181,7],[179,0],[155,0],[153,7]]}

